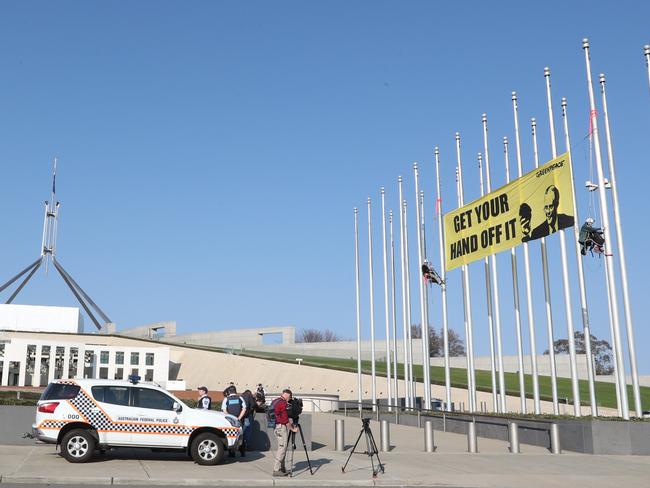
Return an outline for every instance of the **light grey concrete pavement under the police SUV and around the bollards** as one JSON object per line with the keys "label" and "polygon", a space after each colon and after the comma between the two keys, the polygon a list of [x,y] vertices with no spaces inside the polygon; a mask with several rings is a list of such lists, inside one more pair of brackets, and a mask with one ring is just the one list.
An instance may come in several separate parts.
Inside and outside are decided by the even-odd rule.
{"label": "light grey concrete pavement under the police SUV and around the bollards", "polygon": [[[20,483],[219,485],[219,486],[454,486],[454,487],[643,487],[649,486],[649,456],[551,455],[545,449],[522,446],[522,454],[507,452],[507,443],[479,439],[479,454],[466,453],[463,435],[436,432],[438,450],[423,452],[422,430],[391,426],[391,444],[381,453],[386,473],[372,479],[370,460],[352,456],[346,473],[341,472],[348,455],[332,450],[333,415],[314,415],[315,450],[310,453],[314,476],[310,476],[304,451],[295,452],[294,478],[270,476],[272,453],[251,453],[246,458],[226,458],[214,467],[197,466],[182,454],[151,453],[120,449],[87,464],[69,464],[53,446],[0,446],[0,486]],[[371,423],[379,441],[379,426]],[[358,419],[346,419],[346,444],[356,440]]]}

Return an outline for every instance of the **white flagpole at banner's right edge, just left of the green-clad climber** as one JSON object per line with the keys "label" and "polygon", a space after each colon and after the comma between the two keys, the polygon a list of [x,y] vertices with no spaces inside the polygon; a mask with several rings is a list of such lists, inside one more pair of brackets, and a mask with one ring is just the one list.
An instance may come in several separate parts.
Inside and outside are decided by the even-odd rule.
{"label": "white flagpole at banner's right edge, just left of the green-clad climber", "polygon": [[[569,120],[567,116],[567,101],[562,98],[562,122],[564,126],[564,145],[566,151],[571,153],[571,139],[569,138]],[[587,288],[585,286],[585,271],[580,254],[581,245],[578,242],[580,230],[578,225],[581,220],[576,203],[575,179],[573,176],[573,165],[571,165],[571,187],[573,188],[573,208],[575,209],[575,223],[573,226],[573,237],[575,241],[576,257],[578,258],[578,283],[580,284],[580,308],[582,310],[582,330],[585,338],[585,354],[587,356],[587,382],[589,383],[589,404],[591,405],[591,415],[598,416],[598,404],[596,403],[596,387],[594,384],[594,360],[591,351],[591,327],[589,325],[589,309],[587,307]]]}

